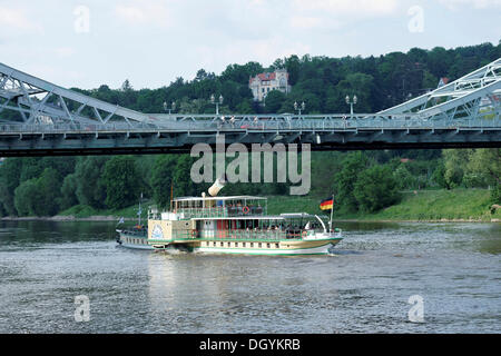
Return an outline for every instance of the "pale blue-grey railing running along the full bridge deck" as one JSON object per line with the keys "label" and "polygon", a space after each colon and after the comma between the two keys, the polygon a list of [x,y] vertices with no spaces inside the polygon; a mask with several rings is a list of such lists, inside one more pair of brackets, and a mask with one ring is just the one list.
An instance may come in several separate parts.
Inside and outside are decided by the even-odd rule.
{"label": "pale blue-grey railing running along the full bridge deck", "polygon": [[99,132],[156,132],[156,131],[353,131],[358,129],[461,129],[461,128],[500,128],[501,119],[497,117],[463,118],[463,119],[423,119],[419,116],[304,116],[297,119],[269,119],[258,120],[220,120],[197,119],[187,121],[159,122],[151,126],[145,122],[136,122],[130,126],[127,122],[110,123],[4,123],[0,125],[1,134],[99,134]]}

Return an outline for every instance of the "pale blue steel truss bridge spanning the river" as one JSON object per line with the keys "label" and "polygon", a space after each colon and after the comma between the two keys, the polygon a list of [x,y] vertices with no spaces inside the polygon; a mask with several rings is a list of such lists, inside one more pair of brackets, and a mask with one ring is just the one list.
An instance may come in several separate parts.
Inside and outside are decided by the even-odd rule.
{"label": "pale blue steel truss bridge spanning the river", "polygon": [[143,113],[0,63],[0,157],[311,144],[312,150],[501,147],[501,58],[376,113]]}

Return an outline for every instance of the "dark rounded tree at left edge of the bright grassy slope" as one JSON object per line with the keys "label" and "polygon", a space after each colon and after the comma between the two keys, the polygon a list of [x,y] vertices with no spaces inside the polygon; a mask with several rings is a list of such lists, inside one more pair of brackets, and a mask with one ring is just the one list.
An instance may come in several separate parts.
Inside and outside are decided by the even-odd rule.
{"label": "dark rounded tree at left edge of the bright grassy slope", "polygon": [[353,195],[363,211],[377,211],[400,200],[396,179],[389,166],[373,166],[360,174]]}

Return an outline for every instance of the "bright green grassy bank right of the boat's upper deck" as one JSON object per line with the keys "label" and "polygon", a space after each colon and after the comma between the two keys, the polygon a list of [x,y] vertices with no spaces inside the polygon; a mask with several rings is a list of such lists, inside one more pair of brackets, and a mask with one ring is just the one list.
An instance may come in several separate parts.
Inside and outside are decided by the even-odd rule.
{"label": "bright green grassy bank right of the boat's upper deck", "polygon": [[[322,212],[321,198],[269,197],[268,214],[284,211]],[[487,189],[420,190],[403,194],[402,201],[374,214],[338,214],[336,220],[391,221],[501,221],[501,209],[491,214],[490,191]]]}

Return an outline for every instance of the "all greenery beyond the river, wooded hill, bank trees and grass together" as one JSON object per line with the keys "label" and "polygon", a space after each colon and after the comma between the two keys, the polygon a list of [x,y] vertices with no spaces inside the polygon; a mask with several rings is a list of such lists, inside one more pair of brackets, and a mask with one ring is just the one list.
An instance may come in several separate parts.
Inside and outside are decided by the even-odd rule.
{"label": "all greenery beyond the river, wooded hill, bank trees and grass together", "polygon": [[[219,107],[224,117],[236,112],[264,115],[263,118],[267,113],[291,113],[295,112],[294,103],[303,101],[304,115],[345,112],[346,95],[355,93],[357,112],[380,112],[409,96],[415,98],[436,88],[441,78],[452,81],[500,57],[501,42],[449,50],[413,48],[407,52],[366,58],[291,55],[278,58],[269,67],[258,62],[234,63],[219,75],[200,69],[194,79],[178,78],[157,89],[137,90],[126,80],[117,89],[102,85],[98,89],[73,90],[141,112],[164,112],[164,102],[176,102],[176,113],[212,115],[210,93],[225,98]],[[291,91],[285,95],[271,90],[265,102],[256,102],[248,78],[278,68],[287,70]],[[52,102],[56,99],[49,98],[49,102],[56,103]],[[68,109],[80,110],[75,102],[69,102]],[[86,115],[95,117],[90,111]],[[487,115],[485,120],[494,116],[494,112]],[[23,120],[13,110],[2,111],[2,118]],[[275,145],[281,142],[273,140],[266,145],[272,145],[277,152]],[[0,217],[136,220],[139,197],[145,198],[143,217],[146,217],[145,204],[166,207],[171,196],[199,196],[207,191],[217,178],[213,175],[217,164],[214,152],[212,157],[200,155],[203,157],[185,152],[7,158],[0,164]],[[296,159],[296,164],[289,155],[288,159],[278,154],[272,158],[266,158],[265,154],[259,157],[259,166],[254,167],[254,159],[243,159],[239,152],[238,157],[225,155],[225,171],[237,179],[232,179],[234,182],[227,185],[223,194],[269,197],[269,215],[326,214],[318,208],[318,202],[333,194],[337,221],[495,221],[501,218],[499,209],[490,211],[492,205],[501,205],[501,148],[314,150],[311,155],[298,154],[301,159]],[[279,159],[286,166],[279,165]],[[298,181],[293,180],[298,178],[301,186],[306,184],[306,171],[303,171],[306,166],[303,165],[307,160],[310,194],[288,196],[293,186],[299,187]],[[206,167],[208,161],[213,165],[210,172]],[[205,182],[195,184],[189,179],[196,167],[199,167],[198,172],[203,169],[204,176],[210,176],[210,182],[204,179]],[[278,175],[279,167],[286,168],[285,176]],[[242,179],[244,168],[253,171],[253,177],[247,178],[253,181],[258,178],[256,184]],[[273,179],[268,179],[268,168],[273,169]],[[259,170],[259,176],[254,169]],[[292,179],[294,169],[296,178]]]}

